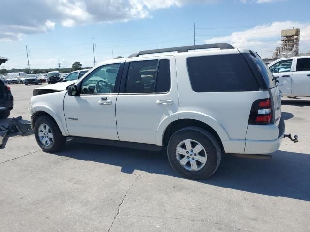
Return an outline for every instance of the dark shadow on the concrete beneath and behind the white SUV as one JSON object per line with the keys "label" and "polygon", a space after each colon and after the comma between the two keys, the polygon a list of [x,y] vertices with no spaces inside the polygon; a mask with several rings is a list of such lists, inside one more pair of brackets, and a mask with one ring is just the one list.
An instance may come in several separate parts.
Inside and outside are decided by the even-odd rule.
{"label": "dark shadow on the concrete beneath and behind the white SUV", "polygon": [[[71,141],[58,155],[119,166],[124,173],[141,170],[182,178],[172,170],[165,151],[150,152]],[[209,179],[199,182],[310,201],[309,167],[310,154],[278,150],[273,153],[271,160],[252,160],[225,155],[217,172]]]}

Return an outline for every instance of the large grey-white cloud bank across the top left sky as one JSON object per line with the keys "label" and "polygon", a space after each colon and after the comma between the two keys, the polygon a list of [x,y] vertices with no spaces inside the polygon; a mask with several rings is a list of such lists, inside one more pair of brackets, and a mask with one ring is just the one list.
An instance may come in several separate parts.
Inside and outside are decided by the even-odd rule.
{"label": "large grey-white cloud bank across the top left sky", "polygon": [[[217,0],[6,0],[1,2],[0,40],[20,40],[23,34],[100,22],[126,22],[150,17],[150,11],[186,3]],[[14,9],[14,10],[13,10]],[[12,13],[14,12],[14,13]]]}

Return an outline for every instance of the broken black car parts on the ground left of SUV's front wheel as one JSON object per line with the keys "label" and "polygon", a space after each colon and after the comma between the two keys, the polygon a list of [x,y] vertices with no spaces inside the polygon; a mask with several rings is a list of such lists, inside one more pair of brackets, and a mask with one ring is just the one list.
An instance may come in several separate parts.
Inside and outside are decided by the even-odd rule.
{"label": "broken black car parts on the ground left of SUV's front wheel", "polygon": [[28,131],[32,131],[30,121],[21,116],[9,119],[8,126],[0,126],[0,148],[5,147],[10,132],[19,132],[24,136]]}

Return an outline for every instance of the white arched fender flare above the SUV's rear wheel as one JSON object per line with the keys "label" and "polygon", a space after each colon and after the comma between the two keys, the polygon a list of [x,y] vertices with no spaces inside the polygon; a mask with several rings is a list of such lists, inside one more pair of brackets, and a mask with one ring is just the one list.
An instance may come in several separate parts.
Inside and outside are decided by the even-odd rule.
{"label": "white arched fender flare above the SUV's rear wheel", "polygon": [[217,132],[218,136],[222,141],[230,140],[230,137],[225,130],[225,128],[213,117],[202,114],[200,112],[195,111],[182,111],[170,116],[165,117],[161,123],[159,124],[156,132],[156,145],[162,146],[163,145],[163,135],[167,129],[167,127],[174,121],[179,119],[193,119],[197,121],[201,121]]}

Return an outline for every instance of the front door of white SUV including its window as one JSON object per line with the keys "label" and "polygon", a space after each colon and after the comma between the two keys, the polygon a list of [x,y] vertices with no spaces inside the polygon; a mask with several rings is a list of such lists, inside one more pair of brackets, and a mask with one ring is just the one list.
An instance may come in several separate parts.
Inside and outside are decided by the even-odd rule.
{"label": "front door of white SUV including its window", "polygon": [[71,136],[118,140],[115,83],[120,73],[120,63],[100,66],[80,80],[80,96],[65,96],[64,114]]}

